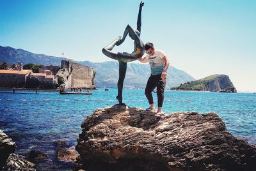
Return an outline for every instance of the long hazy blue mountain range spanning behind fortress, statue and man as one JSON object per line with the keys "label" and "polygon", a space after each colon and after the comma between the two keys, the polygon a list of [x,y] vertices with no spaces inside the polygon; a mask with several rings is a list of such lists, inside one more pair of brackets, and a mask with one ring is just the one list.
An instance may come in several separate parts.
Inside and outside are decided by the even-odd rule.
{"label": "long hazy blue mountain range spanning behind fortress, statue and man", "polygon": [[[61,60],[71,60],[65,57],[46,56],[43,54],[33,54],[26,50],[1,47],[0,46],[0,62],[7,62],[8,65],[15,63],[34,63],[44,64],[45,66],[54,65],[61,66]],[[71,60],[72,61],[72,60]],[[116,87],[118,80],[118,62],[109,61],[103,63],[92,63],[90,61],[74,61],[76,63],[90,66],[95,70],[95,83],[97,87]],[[185,71],[178,70],[173,66],[168,69],[168,78],[166,88],[176,87],[184,82],[195,80],[195,78],[188,75]],[[150,76],[149,64],[128,63],[127,73],[125,76],[124,87],[130,88],[145,88],[147,79]]]}

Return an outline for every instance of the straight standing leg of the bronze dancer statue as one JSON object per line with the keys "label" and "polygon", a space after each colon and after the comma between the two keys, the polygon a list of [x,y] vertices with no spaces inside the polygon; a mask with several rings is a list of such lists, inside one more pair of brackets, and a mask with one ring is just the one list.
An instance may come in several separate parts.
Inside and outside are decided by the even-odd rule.
{"label": "straight standing leg of the bronze dancer statue", "polygon": [[117,89],[118,89],[118,94],[116,96],[116,99],[119,102],[119,105],[125,105],[123,103],[123,87],[124,87],[124,78],[127,70],[127,63],[119,62],[119,78],[117,82]]}

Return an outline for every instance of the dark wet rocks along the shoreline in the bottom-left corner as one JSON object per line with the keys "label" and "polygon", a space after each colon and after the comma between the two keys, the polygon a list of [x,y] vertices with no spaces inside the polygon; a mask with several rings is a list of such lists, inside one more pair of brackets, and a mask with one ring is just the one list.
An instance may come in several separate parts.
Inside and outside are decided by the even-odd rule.
{"label": "dark wet rocks along the shoreline in the bottom-left corner", "polygon": [[[61,169],[70,169],[78,156],[74,146],[65,141],[52,142],[56,151],[56,160],[63,162],[65,167]],[[59,170],[58,167],[51,166],[45,168],[47,160],[51,160],[47,154],[42,151],[32,149],[28,156],[22,156],[15,152],[16,144],[2,130],[0,130],[0,170]],[[51,164],[50,164],[51,165]]]}

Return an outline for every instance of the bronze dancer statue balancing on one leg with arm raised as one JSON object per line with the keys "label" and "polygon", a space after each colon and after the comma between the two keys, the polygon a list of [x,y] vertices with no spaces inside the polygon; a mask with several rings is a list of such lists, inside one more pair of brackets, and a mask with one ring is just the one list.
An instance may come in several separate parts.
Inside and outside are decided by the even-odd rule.
{"label": "bronze dancer statue balancing on one leg with arm raised", "polygon": [[[137,19],[137,30],[132,29],[131,26],[127,26],[124,31],[123,38],[121,39],[121,36],[116,38],[114,41],[109,43],[106,47],[102,49],[103,54],[110,57],[111,59],[115,59],[119,63],[119,78],[117,83],[117,89],[118,89],[118,95],[116,96],[116,99],[118,100],[120,105],[125,105],[123,103],[123,86],[124,86],[124,78],[125,73],[127,70],[127,62],[135,61],[137,59],[140,59],[144,52],[144,44],[140,39],[140,32],[141,32],[141,10],[144,3],[140,3],[139,13],[138,13],[138,19]],[[115,45],[119,46],[121,45],[127,34],[131,37],[132,40],[134,40],[134,51],[129,54],[127,52],[113,52],[111,51]]]}

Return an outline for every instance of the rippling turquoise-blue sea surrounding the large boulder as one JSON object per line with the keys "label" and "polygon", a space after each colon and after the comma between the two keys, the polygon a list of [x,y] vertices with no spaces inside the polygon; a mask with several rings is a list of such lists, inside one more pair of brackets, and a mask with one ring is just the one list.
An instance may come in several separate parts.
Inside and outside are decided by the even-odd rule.
{"label": "rippling turquoise-blue sea surrounding the large boulder", "polygon": [[[64,140],[75,146],[81,123],[95,108],[117,103],[116,89],[98,89],[92,95],[55,93],[0,93],[0,129],[17,143],[16,152],[28,156],[40,150],[48,158],[38,170],[71,170],[72,165],[56,161],[52,142]],[[154,94],[154,100],[157,100]],[[124,103],[147,108],[143,90],[124,89]],[[163,111],[216,112],[234,136],[256,145],[256,94],[165,91]]]}

